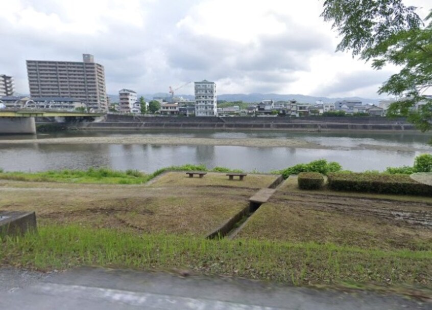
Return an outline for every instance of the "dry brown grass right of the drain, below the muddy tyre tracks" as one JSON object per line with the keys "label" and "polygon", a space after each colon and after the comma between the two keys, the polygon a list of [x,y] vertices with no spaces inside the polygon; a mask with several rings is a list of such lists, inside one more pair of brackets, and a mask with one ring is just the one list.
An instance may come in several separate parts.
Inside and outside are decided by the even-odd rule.
{"label": "dry brown grass right of the drain, below the muddy tyre tracks", "polygon": [[[236,238],[289,242],[331,242],[363,249],[432,250],[432,229],[346,209],[320,201],[271,201],[247,220]],[[323,208],[320,208],[323,206]],[[345,209],[345,210],[344,210]]]}

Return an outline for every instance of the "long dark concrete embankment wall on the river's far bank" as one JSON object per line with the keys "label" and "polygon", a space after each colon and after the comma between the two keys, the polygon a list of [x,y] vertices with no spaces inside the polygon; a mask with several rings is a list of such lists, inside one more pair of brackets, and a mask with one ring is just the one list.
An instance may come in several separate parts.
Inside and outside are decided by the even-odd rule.
{"label": "long dark concrete embankment wall on the river's far bank", "polygon": [[199,130],[299,130],[299,131],[405,131],[416,130],[406,120],[378,117],[137,117],[107,115],[105,121],[75,123],[71,129],[86,130],[145,130],[145,129],[199,129]]}

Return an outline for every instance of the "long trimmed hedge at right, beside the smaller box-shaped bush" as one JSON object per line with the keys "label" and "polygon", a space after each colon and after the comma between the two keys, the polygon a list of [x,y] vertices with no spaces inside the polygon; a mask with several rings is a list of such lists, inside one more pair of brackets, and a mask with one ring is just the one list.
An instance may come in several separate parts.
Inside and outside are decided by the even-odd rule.
{"label": "long trimmed hedge at right, beside the smaller box-shaped bush", "polygon": [[432,186],[418,183],[407,174],[329,173],[329,189],[380,194],[432,196]]}

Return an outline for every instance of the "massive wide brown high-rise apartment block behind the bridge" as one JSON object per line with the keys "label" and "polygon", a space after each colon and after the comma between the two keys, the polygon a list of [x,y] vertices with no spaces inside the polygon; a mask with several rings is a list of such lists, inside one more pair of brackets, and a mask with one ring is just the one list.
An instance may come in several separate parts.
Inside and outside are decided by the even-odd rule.
{"label": "massive wide brown high-rise apartment block behind the bridge", "polygon": [[70,97],[86,102],[88,108],[107,110],[104,66],[93,55],[83,62],[27,60],[31,97]]}

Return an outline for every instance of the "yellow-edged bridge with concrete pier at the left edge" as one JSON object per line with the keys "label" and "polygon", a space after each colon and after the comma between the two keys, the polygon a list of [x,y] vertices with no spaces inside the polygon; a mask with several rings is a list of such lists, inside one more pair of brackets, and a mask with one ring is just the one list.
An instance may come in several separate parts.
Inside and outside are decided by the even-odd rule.
{"label": "yellow-edged bridge with concrete pier at the left edge", "polygon": [[102,113],[68,112],[59,110],[0,110],[0,135],[36,134],[35,117],[56,117],[65,121],[94,120]]}

